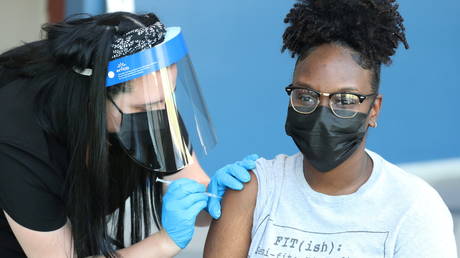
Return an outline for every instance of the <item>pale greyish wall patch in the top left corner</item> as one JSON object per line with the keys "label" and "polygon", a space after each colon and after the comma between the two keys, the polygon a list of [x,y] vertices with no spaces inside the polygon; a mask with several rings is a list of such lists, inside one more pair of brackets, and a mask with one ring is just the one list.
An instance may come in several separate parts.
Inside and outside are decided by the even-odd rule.
{"label": "pale greyish wall patch in the top left corner", "polygon": [[46,0],[0,0],[0,52],[40,38]]}

